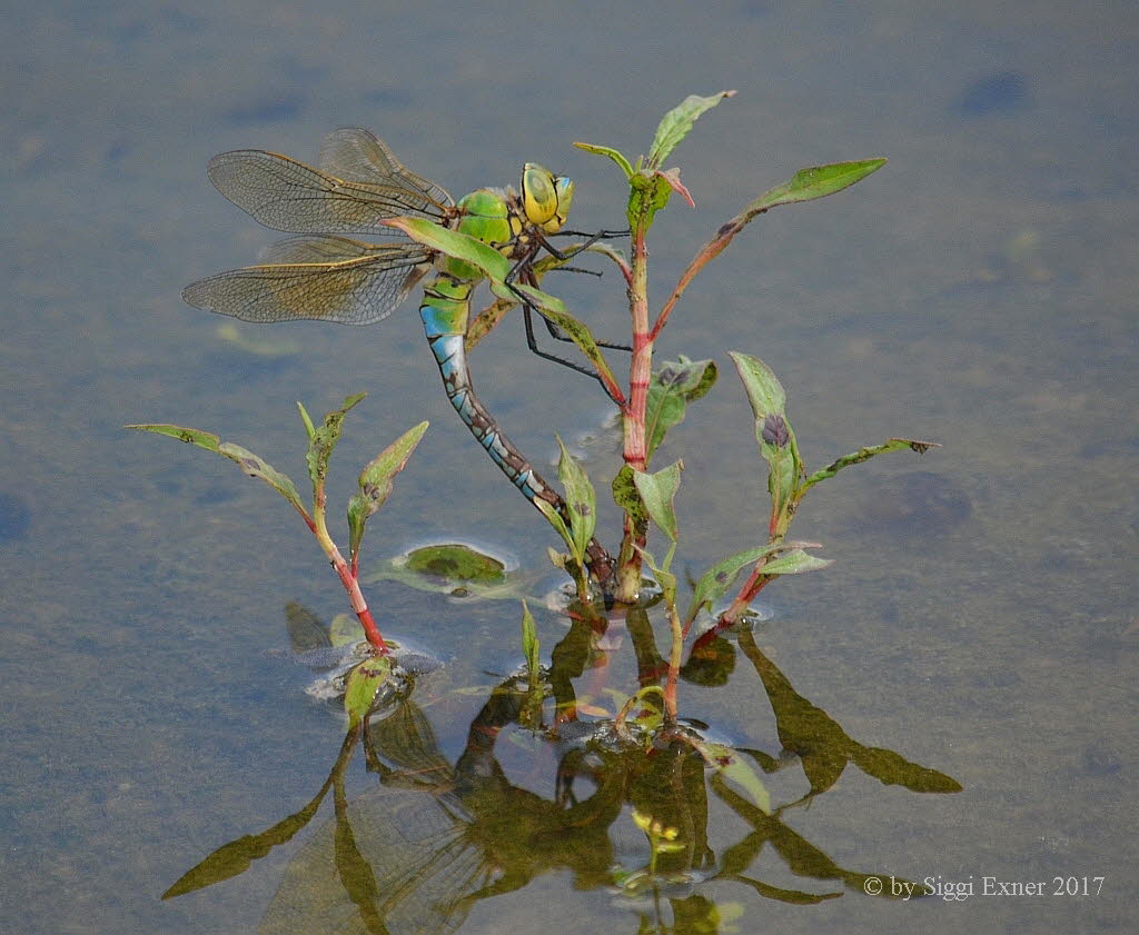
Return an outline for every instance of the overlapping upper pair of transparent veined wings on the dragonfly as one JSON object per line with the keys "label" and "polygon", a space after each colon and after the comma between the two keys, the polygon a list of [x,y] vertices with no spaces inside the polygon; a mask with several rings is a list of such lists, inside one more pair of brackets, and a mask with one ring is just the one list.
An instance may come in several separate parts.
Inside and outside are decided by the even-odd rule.
{"label": "overlapping upper pair of transparent veined wings on the dragonfly", "polygon": [[278,153],[236,149],[214,156],[206,174],[251,218],[292,233],[395,237],[401,235],[384,220],[410,215],[445,222],[453,216],[451,196],[408,172],[368,131],[338,130],[325,150],[326,171]]}

